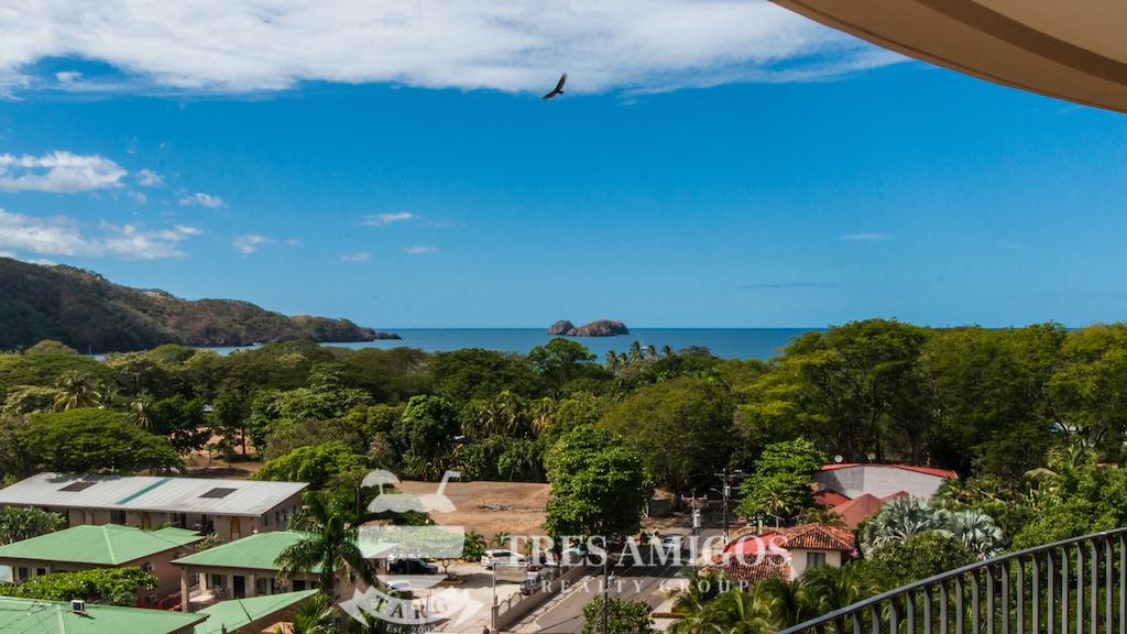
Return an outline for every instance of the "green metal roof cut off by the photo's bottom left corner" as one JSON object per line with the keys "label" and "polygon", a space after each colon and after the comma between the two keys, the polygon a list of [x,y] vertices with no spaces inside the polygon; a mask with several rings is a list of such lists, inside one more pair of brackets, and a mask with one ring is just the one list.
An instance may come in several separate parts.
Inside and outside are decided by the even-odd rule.
{"label": "green metal roof cut off by the photo's bottom left corner", "polygon": [[63,601],[0,597],[0,632],[35,634],[170,634],[206,615],[87,605],[86,614]]}

